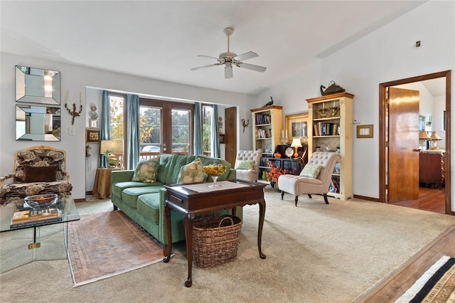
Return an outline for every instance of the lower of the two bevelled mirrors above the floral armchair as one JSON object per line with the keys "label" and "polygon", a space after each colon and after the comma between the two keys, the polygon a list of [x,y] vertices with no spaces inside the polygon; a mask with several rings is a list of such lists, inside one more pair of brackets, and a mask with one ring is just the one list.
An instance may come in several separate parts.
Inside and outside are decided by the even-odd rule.
{"label": "lower of the two bevelled mirrors above the floral armchair", "polygon": [[16,141],[60,141],[60,108],[16,105]]}

